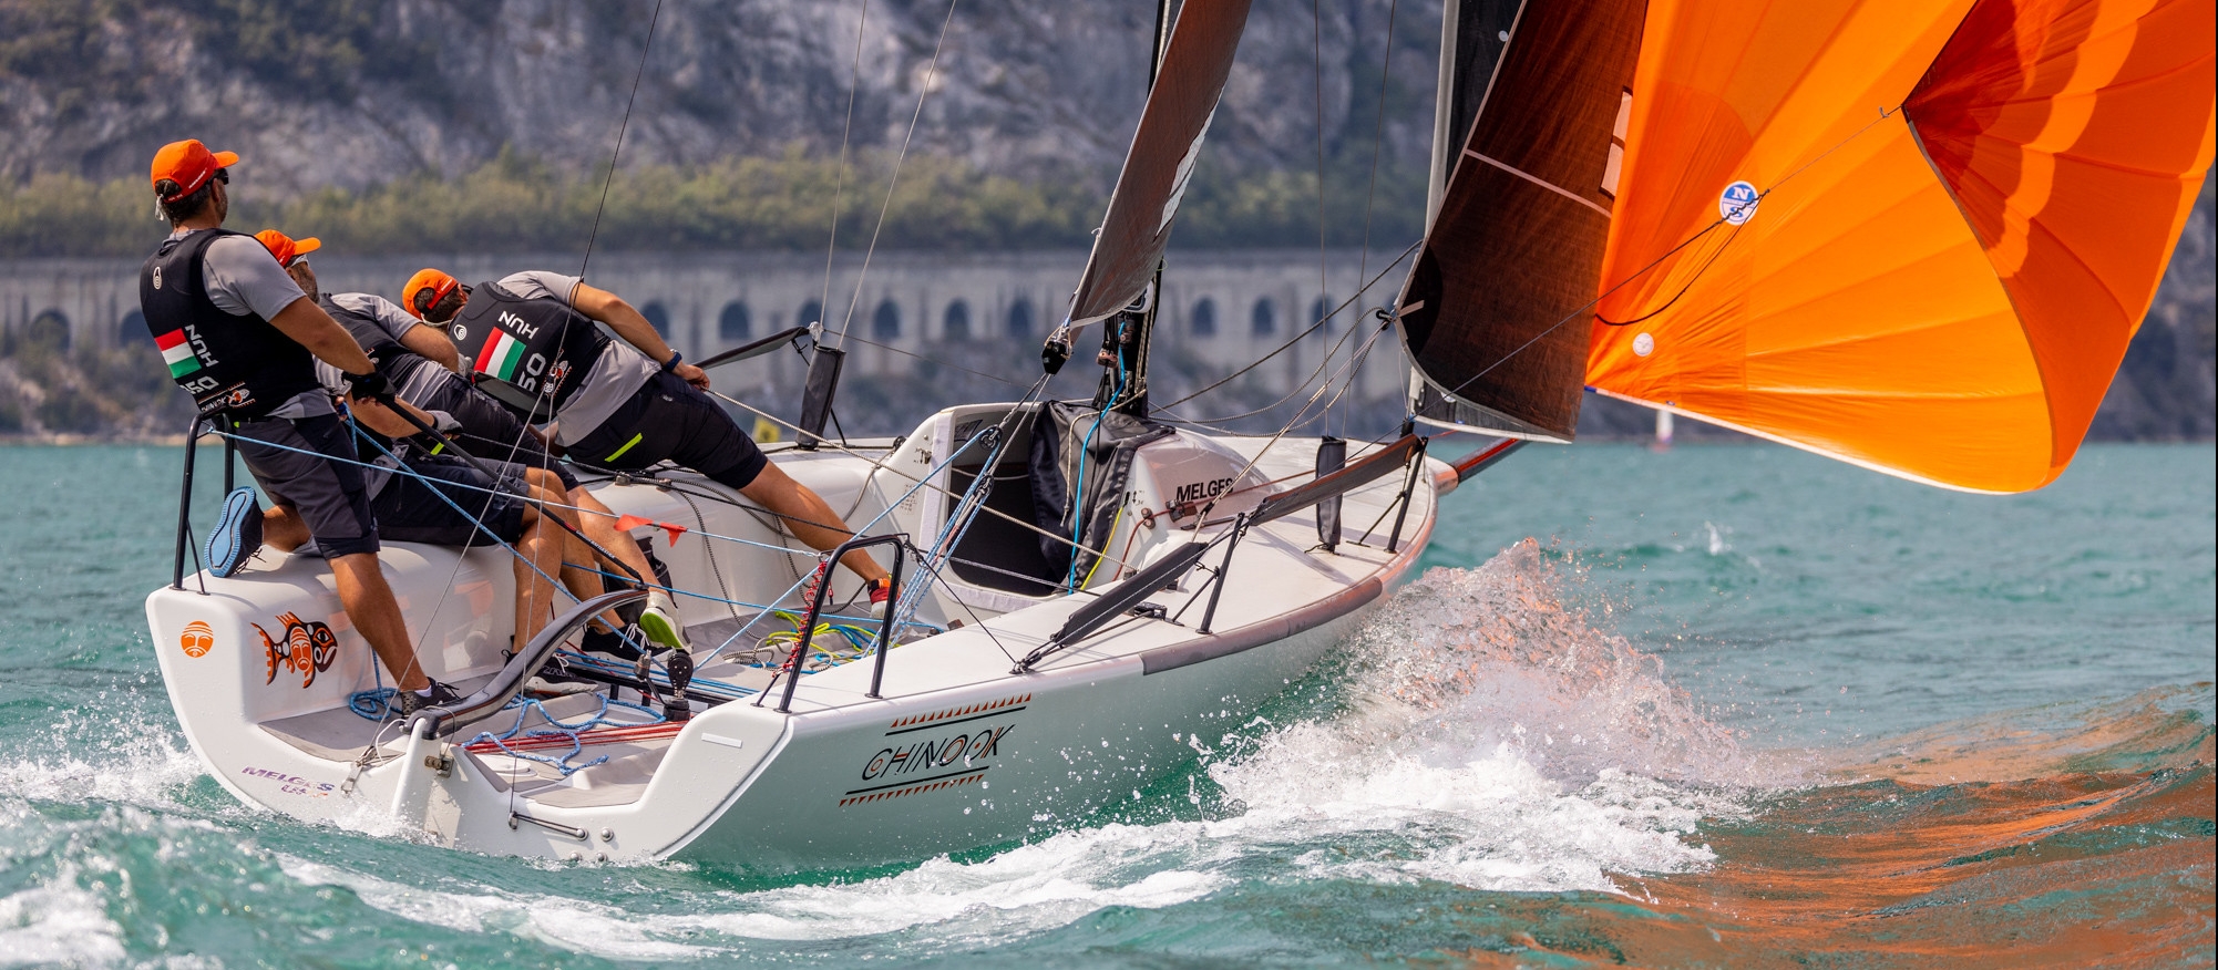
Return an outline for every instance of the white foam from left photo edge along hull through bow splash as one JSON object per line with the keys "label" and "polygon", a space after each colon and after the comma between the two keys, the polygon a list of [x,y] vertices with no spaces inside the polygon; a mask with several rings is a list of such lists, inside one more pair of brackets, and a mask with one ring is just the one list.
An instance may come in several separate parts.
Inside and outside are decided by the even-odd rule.
{"label": "white foam from left photo edge along hull through bow splash", "polygon": [[[42,870],[0,895],[0,950],[89,966],[135,950],[109,917],[124,910],[104,899],[133,892],[131,879],[91,870],[113,868],[100,839],[131,842],[122,855],[140,866],[175,868],[164,881],[244,866],[222,879],[448,937],[430,959],[452,939],[619,961],[832,957],[856,939],[932,957],[1258,879],[1546,892],[1703,870],[1717,857],[1697,824],[1741,811],[1728,782],[1748,775],[1748,760],[1655,658],[1586,622],[1564,574],[1533,543],[1479,569],[1433,569],[1262,718],[1189,737],[1198,764],[1158,791],[1193,797],[1171,795],[1182,804],[1167,813],[1105,815],[994,855],[830,884],[725,886],[679,864],[426,866],[426,853],[457,857],[406,839],[333,844],[315,835],[328,828],[193,795],[206,782],[173,731],[84,740],[64,751],[95,755],[0,764],[0,811],[104,804],[16,826],[51,844],[9,848]],[[240,828],[255,837],[224,837]]]}

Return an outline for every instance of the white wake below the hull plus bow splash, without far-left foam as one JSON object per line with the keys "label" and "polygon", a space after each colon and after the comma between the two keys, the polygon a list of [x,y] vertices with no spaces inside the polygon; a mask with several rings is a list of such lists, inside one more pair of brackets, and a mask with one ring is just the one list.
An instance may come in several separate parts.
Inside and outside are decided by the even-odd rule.
{"label": "white wake below the hull plus bow splash, without far-left foam", "polygon": [[[978,861],[823,886],[688,892],[637,912],[497,888],[406,888],[288,859],[404,919],[614,959],[750,941],[903,937],[960,948],[1102,908],[1187,904],[1255,877],[1619,890],[1715,861],[1701,817],[1741,811],[1750,762],[1655,658],[1586,625],[1533,543],[1397,594],[1313,682],[1333,706],[1193,737],[1215,817],[1093,824]],[[1211,797],[1202,797],[1202,788]]]}

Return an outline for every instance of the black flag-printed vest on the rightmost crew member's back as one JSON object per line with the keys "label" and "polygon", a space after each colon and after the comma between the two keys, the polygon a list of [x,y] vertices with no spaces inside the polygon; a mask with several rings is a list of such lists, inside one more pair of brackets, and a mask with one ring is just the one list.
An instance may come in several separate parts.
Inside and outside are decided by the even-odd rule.
{"label": "black flag-printed vest on the rightmost crew member's back", "polygon": [[559,299],[477,283],[448,334],[470,357],[470,383],[526,421],[548,421],[608,350],[608,334]]}

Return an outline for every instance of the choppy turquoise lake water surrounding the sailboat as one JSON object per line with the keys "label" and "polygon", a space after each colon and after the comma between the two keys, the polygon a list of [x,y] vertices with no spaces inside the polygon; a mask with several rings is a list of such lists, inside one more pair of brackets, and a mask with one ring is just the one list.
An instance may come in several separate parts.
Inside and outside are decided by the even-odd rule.
{"label": "choppy turquoise lake water surrounding the sailboat", "polygon": [[2012,498],[1781,447],[1528,447],[1446,501],[1426,578],[1147,802],[783,881],[231,799],[140,607],[177,456],[0,447],[0,966],[2214,959],[2209,445],[2089,447]]}

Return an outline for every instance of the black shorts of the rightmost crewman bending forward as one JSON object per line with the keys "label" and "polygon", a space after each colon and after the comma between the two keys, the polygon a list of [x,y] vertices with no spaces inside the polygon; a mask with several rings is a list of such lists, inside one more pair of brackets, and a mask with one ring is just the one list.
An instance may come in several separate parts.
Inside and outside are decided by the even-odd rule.
{"label": "black shorts of the rightmost crewman bending forward", "polygon": [[770,465],[716,399],[676,374],[654,374],[601,427],[570,445],[570,458],[617,472],[668,458],[732,489],[752,485]]}

